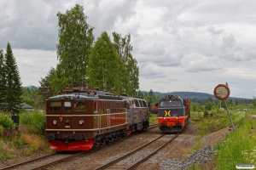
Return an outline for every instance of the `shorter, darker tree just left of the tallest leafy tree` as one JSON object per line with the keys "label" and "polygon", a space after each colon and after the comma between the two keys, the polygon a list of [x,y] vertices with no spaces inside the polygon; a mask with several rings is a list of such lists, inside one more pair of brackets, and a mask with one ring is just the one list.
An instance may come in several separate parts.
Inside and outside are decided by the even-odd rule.
{"label": "shorter, darker tree just left of the tallest leafy tree", "polygon": [[55,95],[55,88],[51,86],[55,80],[55,69],[50,68],[46,77],[41,78],[40,87],[38,87],[39,99],[37,105],[39,108],[45,109],[45,100]]}

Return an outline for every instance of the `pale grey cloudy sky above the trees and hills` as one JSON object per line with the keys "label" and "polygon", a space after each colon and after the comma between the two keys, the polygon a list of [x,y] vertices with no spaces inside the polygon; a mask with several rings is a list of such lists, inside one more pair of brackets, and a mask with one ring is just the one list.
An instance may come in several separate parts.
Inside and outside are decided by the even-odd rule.
{"label": "pale grey cloudy sky above the trees and hills", "polygon": [[0,49],[9,42],[22,86],[40,86],[58,63],[58,18],[79,4],[94,27],[131,34],[139,89],[256,96],[256,1],[253,0],[0,0]]}

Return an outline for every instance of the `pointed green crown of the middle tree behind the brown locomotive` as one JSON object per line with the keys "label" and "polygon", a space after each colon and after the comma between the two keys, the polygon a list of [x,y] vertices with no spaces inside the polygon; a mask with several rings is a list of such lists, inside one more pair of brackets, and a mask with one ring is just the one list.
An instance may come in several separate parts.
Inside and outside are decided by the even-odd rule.
{"label": "pointed green crown of the middle tree behind the brown locomotive", "polygon": [[106,31],[97,38],[95,46],[91,49],[89,57],[88,76],[92,88],[102,88],[121,93],[122,87],[119,73],[124,65],[113,48],[113,44]]}

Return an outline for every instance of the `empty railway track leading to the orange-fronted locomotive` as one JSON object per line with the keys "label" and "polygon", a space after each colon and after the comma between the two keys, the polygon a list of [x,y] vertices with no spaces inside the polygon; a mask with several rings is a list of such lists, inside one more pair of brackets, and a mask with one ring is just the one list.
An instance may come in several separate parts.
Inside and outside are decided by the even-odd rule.
{"label": "empty railway track leading to the orange-fronted locomotive", "polygon": [[[180,132],[180,133],[182,133],[182,132]],[[138,147],[137,149],[132,150],[131,152],[125,154],[125,156],[120,156],[119,158],[102,165],[102,167],[97,167],[95,170],[102,170],[102,169],[108,169],[108,170],[112,170],[112,169],[126,169],[126,170],[128,170],[129,169],[130,170],[130,169],[134,169],[135,167],[138,167],[143,162],[147,161],[148,158],[150,158],[151,156],[154,156],[154,154],[156,154],[159,150],[161,150],[163,147],[165,147],[166,144],[171,143],[172,140],[176,139],[177,136],[180,133],[177,133],[176,135],[173,134],[174,136],[172,137],[172,139],[168,139],[163,144],[160,144],[160,147],[156,148],[153,151],[150,151],[150,153],[147,156],[144,156],[141,160],[136,161],[132,165],[124,165],[124,164],[120,164],[119,162],[125,160],[129,156],[133,156],[133,155],[139,153],[139,151],[141,151],[141,150],[146,149],[146,147],[149,146],[149,144],[153,144],[154,142],[158,141],[159,139],[162,139],[163,137],[166,137],[166,134],[161,134],[159,137],[149,141],[147,144],[143,144],[141,147]],[[170,136],[170,135],[168,135],[168,136]],[[148,149],[148,147],[147,147],[147,149]],[[149,149],[149,150],[151,150],[151,149]]]}

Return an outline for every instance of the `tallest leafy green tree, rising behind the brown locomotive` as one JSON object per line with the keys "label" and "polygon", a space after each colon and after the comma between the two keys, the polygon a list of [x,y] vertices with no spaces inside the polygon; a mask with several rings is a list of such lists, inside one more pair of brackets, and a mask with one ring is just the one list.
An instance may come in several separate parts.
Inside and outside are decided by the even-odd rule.
{"label": "tallest leafy green tree, rising behind the brown locomotive", "polygon": [[67,82],[85,82],[87,79],[88,58],[94,36],[84,14],[84,8],[76,4],[65,14],[59,12],[59,44],[57,44],[56,78],[53,85],[60,90]]}

